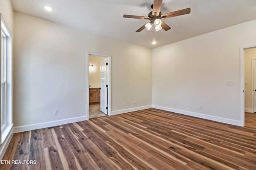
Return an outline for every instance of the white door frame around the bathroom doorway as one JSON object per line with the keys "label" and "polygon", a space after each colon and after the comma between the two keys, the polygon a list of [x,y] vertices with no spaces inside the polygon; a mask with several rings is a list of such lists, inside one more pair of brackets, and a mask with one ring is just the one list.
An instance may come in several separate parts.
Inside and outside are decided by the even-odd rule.
{"label": "white door frame around the bathroom doorway", "polygon": [[108,110],[107,110],[107,115],[111,115],[111,55],[105,55],[105,54],[100,54],[100,53],[95,53],[95,52],[87,52],[86,55],[86,61],[87,61],[87,82],[86,82],[86,106],[87,106],[87,112],[86,112],[86,116],[87,116],[87,120],[89,120],[89,56],[90,55],[95,55],[97,57],[105,57],[107,58],[108,61],[108,67],[106,68],[108,71]]}

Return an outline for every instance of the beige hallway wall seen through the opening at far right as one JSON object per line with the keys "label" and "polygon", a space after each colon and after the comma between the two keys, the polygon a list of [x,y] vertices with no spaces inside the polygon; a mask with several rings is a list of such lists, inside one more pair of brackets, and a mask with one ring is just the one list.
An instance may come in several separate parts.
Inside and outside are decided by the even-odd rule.
{"label": "beige hallway wall seen through the opening at far right", "polygon": [[252,110],[252,59],[256,59],[256,48],[244,50],[244,107],[245,111]]}

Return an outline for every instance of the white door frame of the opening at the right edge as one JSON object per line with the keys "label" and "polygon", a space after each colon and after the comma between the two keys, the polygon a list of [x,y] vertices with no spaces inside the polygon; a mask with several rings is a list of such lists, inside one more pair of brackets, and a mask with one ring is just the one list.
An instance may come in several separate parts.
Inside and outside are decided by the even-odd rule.
{"label": "white door frame of the opening at the right edge", "polygon": [[256,44],[240,47],[240,126],[244,126],[244,50],[255,47]]}

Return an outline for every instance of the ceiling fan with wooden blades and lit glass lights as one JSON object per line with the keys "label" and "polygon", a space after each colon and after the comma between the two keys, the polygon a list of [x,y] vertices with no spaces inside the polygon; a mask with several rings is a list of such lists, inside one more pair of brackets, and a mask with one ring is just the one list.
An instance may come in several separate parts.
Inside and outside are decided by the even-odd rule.
{"label": "ceiling fan with wooden blades and lit glass lights", "polygon": [[186,8],[186,9],[183,9],[183,10],[178,10],[178,11],[162,14],[160,12],[160,9],[161,9],[161,6],[162,6],[162,1],[163,0],[154,0],[154,3],[151,6],[152,11],[150,13],[148,13],[147,17],[144,17],[144,16],[132,16],[132,15],[126,15],[126,14],[124,14],[123,17],[124,18],[136,18],[136,19],[150,20],[145,25],[140,27],[136,32],[140,32],[144,28],[150,30],[152,25],[153,25],[153,23],[155,25],[156,31],[160,31],[161,29],[164,29],[165,31],[168,31],[169,29],[171,29],[171,27],[169,27],[164,21],[162,21],[160,19],[166,19],[166,18],[181,16],[181,15],[189,14],[190,13],[190,8]]}

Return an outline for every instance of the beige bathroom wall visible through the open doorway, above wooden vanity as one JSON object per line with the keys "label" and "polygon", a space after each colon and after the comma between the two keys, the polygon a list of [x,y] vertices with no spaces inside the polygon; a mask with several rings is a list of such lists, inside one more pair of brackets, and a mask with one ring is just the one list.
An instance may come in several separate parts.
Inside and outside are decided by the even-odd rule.
{"label": "beige bathroom wall visible through the open doorway, above wooden vanity", "polygon": [[89,66],[89,85],[91,87],[100,88],[100,61],[103,59],[104,57],[89,56],[89,64],[93,65]]}

